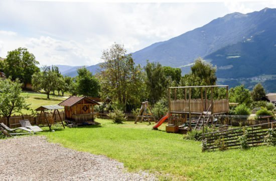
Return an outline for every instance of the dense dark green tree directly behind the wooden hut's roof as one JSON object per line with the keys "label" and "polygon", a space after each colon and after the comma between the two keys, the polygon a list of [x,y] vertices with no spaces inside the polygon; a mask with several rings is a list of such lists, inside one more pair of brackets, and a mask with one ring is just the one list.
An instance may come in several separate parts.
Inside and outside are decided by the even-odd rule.
{"label": "dense dark green tree directly behind the wooden hut's roof", "polygon": [[78,95],[97,97],[99,94],[99,81],[85,67],[77,70],[76,91]]}

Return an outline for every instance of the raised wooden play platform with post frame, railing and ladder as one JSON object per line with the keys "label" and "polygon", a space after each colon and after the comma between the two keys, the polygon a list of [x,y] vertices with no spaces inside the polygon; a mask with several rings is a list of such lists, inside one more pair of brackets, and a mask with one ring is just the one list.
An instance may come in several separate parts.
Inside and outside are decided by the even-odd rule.
{"label": "raised wooden play platform with post frame, railing and ladder", "polygon": [[[226,95],[225,99],[214,100],[214,88],[225,87]],[[192,89],[200,88],[200,99],[192,99]],[[184,99],[178,99],[177,91],[184,93]],[[188,98],[187,98],[188,92]],[[208,99],[208,92],[210,92]],[[173,98],[171,98],[173,94]],[[178,122],[175,127],[181,126],[183,122],[187,122],[189,117],[189,129],[192,129],[192,115],[198,115],[199,119],[196,122],[195,129],[201,129],[204,124],[208,124],[210,121],[213,124],[213,117],[209,115],[215,114],[227,114],[229,112],[229,99],[228,99],[228,85],[209,85],[209,86],[180,86],[168,88],[168,115],[169,125],[172,124],[172,120]],[[185,118],[184,118],[185,117]]]}

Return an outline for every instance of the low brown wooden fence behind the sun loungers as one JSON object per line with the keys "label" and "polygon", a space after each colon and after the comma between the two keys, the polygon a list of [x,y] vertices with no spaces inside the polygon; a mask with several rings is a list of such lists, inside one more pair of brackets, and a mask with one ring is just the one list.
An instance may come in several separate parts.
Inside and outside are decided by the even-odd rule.
{"label": "low brown wooden fence behind the sun loungers", "polygon": [[[51,114],[53,114],[53,112],[51,112]],[[63,111],[60,112],[60,117],[64,121],[65,117],[64,117],[64,112]],[[24,120],[24,119],[28,119],[32,125],[40,125],[40,124],[46,125],[47,124],[47,122],[45,121],[45,116],[43,114],[41,116],[40,116],[40,114],[37,114],[36,116],[34,116],[34,115],[20,115],[20,116],[12,116],[10,118],[10,127],[11,128],[20,127],[21,125],[20,125],[19,121]],[[54,120],[57,121],[57,122],[60,121],[60,118],[59,118],[57,112],[54,115]],[[7,118],[0,117],[0,123],[4,123],[4,124],[8,125]]]}

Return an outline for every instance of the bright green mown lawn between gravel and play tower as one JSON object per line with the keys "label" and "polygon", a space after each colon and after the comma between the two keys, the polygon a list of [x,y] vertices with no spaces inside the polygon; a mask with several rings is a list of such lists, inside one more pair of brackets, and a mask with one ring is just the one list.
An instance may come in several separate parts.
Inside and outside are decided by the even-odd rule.
{"label": "bright green mown lawn between gravel and play tower", "polygon": [[161,179],[273,180],[276,175],[276,147],[202,153],[201,142],[166,133],[164,124],[161,131],[156,131],[147,123],[96,121],[101,125],[39,135],[67,148],[114,158],[130,171],[148,170]]}

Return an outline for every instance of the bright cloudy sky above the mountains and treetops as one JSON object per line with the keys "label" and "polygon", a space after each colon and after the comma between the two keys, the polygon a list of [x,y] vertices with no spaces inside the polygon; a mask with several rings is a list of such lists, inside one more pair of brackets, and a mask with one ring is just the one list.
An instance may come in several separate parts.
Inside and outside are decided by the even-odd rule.
{"label": "bright cloudy sky above the mountains and treetops", "polygon": [[0,0],[0,57],[26,47],[41,65],[93,65],[101,62],[102,50],[114,42],[124,44],[131,53],[226,14],[266,7],[276,8],[275,1],[169,4]]}

